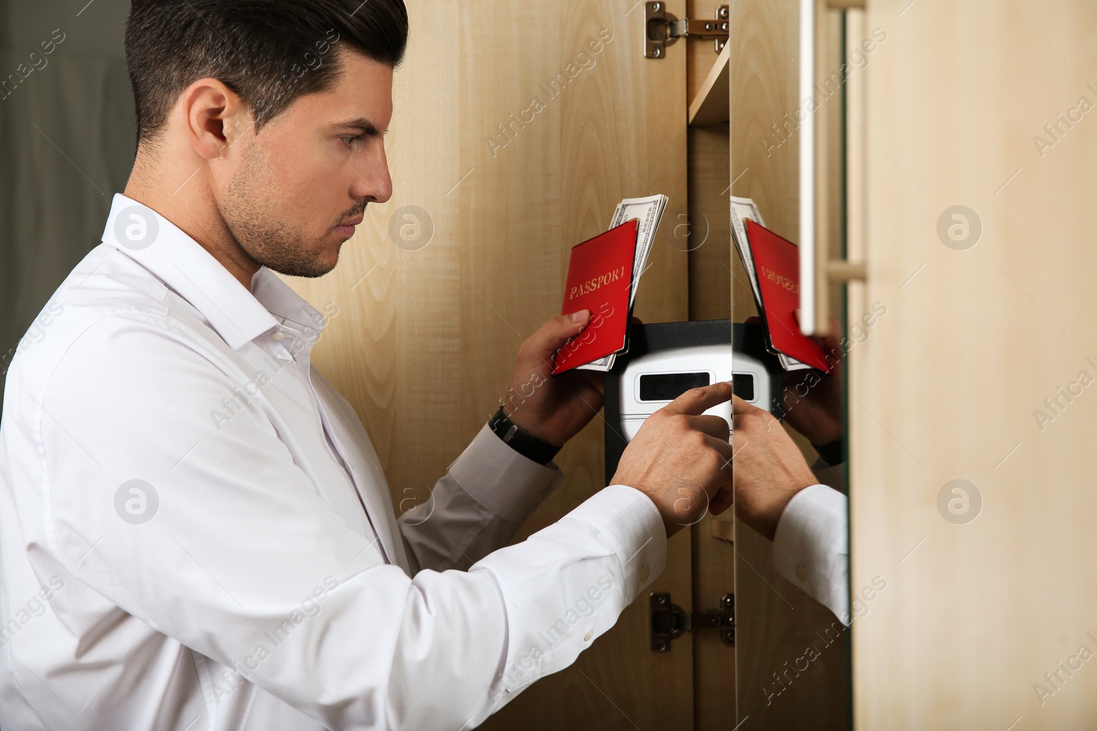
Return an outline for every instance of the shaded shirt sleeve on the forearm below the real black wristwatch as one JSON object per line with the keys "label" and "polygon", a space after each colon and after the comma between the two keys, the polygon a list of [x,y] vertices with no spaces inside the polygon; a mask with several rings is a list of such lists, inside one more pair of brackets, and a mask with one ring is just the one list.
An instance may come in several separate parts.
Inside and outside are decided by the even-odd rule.
{"label": "shaded shirt sleeve on the forearm below the real black wristwatch", "polygon": [[438,480],[431,498],[399,519],[412,573],[467,570],[506,545],[564,480],[554,462],[518,454],[485,424]]}

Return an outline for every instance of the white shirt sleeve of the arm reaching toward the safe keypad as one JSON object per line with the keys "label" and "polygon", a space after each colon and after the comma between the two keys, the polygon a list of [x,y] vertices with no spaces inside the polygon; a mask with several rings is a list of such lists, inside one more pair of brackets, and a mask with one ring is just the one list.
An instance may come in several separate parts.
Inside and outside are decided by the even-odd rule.
{"label": "white shirt sleeve of the arm reaching toward the safe keypad", "polygon": [[[233,669],[206,686],[211,707],[247,679],[330,729],[470,728],[574,662],[664,568],[655,505],[610,486],[468,571],[409,576],[332,509],[256,399],[228,423],[211,419],[240,374],[193,340],[140,315],[104,318],[48,375],[35,429],[47,550],[105,601]],[[512,493],[461,464],[450,475],[514,522],[550,472]],[[93,642],[84,652],[94,658]]]}

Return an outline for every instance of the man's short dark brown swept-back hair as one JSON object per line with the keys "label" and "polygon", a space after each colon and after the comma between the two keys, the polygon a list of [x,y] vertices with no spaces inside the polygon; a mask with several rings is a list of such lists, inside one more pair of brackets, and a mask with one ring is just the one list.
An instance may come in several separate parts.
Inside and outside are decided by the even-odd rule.
{"label": "man's short dark brown swept-back hair", "polygon": [[396,67],[407,35],[404,0],[133,0],[126,68],[137,141],[157,137],[199,79],[238,94],[258,130],[299,96],[330,88],[347,47]]}

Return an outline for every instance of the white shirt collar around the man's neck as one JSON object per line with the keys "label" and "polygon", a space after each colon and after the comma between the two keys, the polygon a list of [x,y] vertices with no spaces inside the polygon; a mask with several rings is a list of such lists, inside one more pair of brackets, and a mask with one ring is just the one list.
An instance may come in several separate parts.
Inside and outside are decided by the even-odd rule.
{"label": "white shirt collar around the man's neck", "polygon": [[320,313],[265,266],[249,292],[197,241],[148,206],[114,194],[103,243],[115,247],[190,302],[233,350],[279,321],[275,315],[317,331]]}

